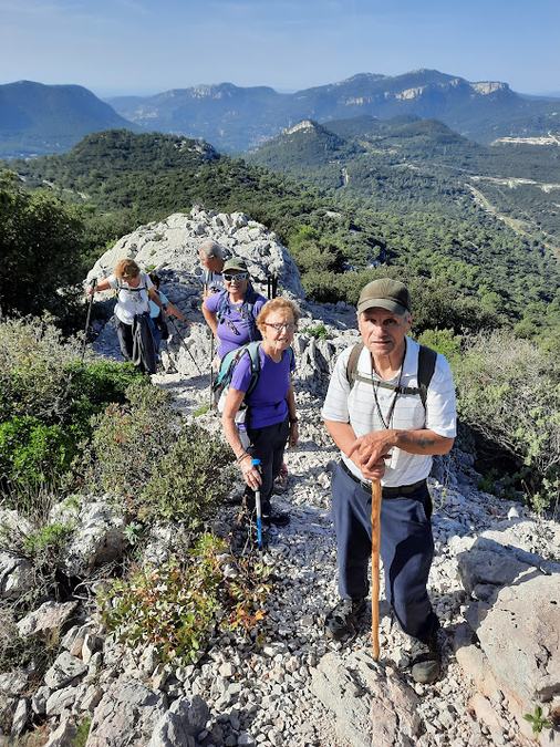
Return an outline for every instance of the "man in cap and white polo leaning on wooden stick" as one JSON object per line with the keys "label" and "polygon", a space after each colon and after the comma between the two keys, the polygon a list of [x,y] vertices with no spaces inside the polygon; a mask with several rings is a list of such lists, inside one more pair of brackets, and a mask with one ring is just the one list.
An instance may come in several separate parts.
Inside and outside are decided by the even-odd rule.
{"label": "man in cap and white polo leaning on wooden stick", "polygon": [[341,601],[325,629],[342,640],[365,611],[371,480],[381,480],[385,594],[413,639],[413,678],[429,683],[439,676],[440,654],[426,590],[434,554],[426,478],[433,455],[447,454],[454,443],[455,391],[445,357],[407,336],[411,322],[402,282],[365,286],[357,302],[362,343],[339,356],[329,385],[322,415],[341,450],[332,481]]}

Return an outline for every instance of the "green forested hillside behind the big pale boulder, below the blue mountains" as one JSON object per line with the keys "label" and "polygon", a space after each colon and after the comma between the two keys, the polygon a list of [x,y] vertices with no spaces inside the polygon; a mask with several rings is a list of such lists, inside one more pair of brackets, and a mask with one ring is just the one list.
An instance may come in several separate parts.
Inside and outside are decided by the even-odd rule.
{"label": "green forested hillside behind the big pale boulder, below the blue mountains", "polygon": [[[412,128],[416,149],[434,129],[449,147],[471,149],[442,125],[400,126]],[[560,276],[542,242],[488,215],[457,180],[390,165],[370,164],[363,176],[357,170],[361,189],[331,189],[326,181],[305,187],[197,141],[125,131],[90,135],[66,155],[10,164],[27,187],[46,186],[75,206],[89,251],[195,203],[243,210],[289,246],[318,300],[355,302],[366,279],[390,271],[440,308],[439,326],[515,324],[519,334],[553,345]]]}

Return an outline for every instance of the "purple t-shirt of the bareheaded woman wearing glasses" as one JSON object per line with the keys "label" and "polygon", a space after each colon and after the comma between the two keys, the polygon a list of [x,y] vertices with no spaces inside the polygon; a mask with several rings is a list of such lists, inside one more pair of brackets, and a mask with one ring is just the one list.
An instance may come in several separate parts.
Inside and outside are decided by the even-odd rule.
{"label": "purple t-shirt of the bareheaded woman wearing glasses", "polygon": [[[267,425],[282,423],[288,416],[288,390],[290,373],[295,369],[293,353],[284,350],[280,363],[269,357],[259,345],[260,373],[257,386],[246,396],[249,407],[248,428],[265,428]],[[251,359],[249,353],[241,355],[234,373],[230,386],[238,392],[247,392],[251,383]]]}

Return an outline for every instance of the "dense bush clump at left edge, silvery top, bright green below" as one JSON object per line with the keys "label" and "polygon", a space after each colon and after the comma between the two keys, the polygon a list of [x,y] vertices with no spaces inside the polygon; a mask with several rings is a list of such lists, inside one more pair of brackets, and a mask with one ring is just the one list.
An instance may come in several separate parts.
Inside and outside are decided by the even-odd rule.
{"label": "dense bush clump at left edge, silvery top, bright green below", "polygon": [[[132,364],[90,359],[48,318],[0,324],[0,487],[9,505],[61,487],[92,433],[90,419],[144,380]],[[15,506],[14,506],[15,507]]]}

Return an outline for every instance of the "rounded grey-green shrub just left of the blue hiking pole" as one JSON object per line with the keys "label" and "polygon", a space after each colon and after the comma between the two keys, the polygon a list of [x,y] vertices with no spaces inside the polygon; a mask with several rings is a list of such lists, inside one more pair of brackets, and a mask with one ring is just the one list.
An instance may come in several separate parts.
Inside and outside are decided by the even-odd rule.
{"label": "rounded grey-green shrub just left of the blue hiking pole", "polygon": [[141,495],[141,518],[203,526],[232,479],[231,453],[218,438],[189,425],[165,455]]}

